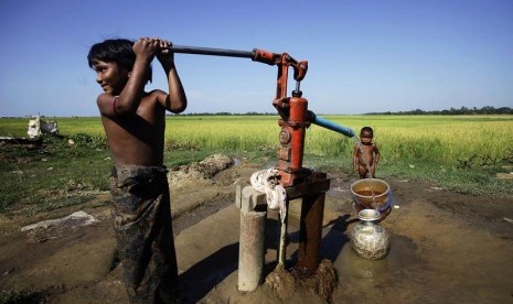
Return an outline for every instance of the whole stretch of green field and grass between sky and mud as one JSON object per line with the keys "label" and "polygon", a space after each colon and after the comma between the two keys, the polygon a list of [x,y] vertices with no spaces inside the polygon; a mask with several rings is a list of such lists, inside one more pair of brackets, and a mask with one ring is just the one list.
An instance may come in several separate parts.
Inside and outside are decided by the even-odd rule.
{"label": "whole stretch of green field and grass between sky and mud", "polygon": [[[374,128],[382,152],[377,176],[430,181],[468,194],[512,195],[513,116],[325,116],[359,131]],[[99,118],[56,118],[60,137],[39,149],[0,145],[0,213],[38,213],[81,204],[108,189],[113,165]],[[1,137],[26,137],[28,119],[0,119]],[[278,116],[172,116],[164,164],[197,162],[213,153],[270,166],[277,161]],[[74,144],[70,145],[72,139]],[[311,126],[303,166],[352,172],[354,142]]]}

